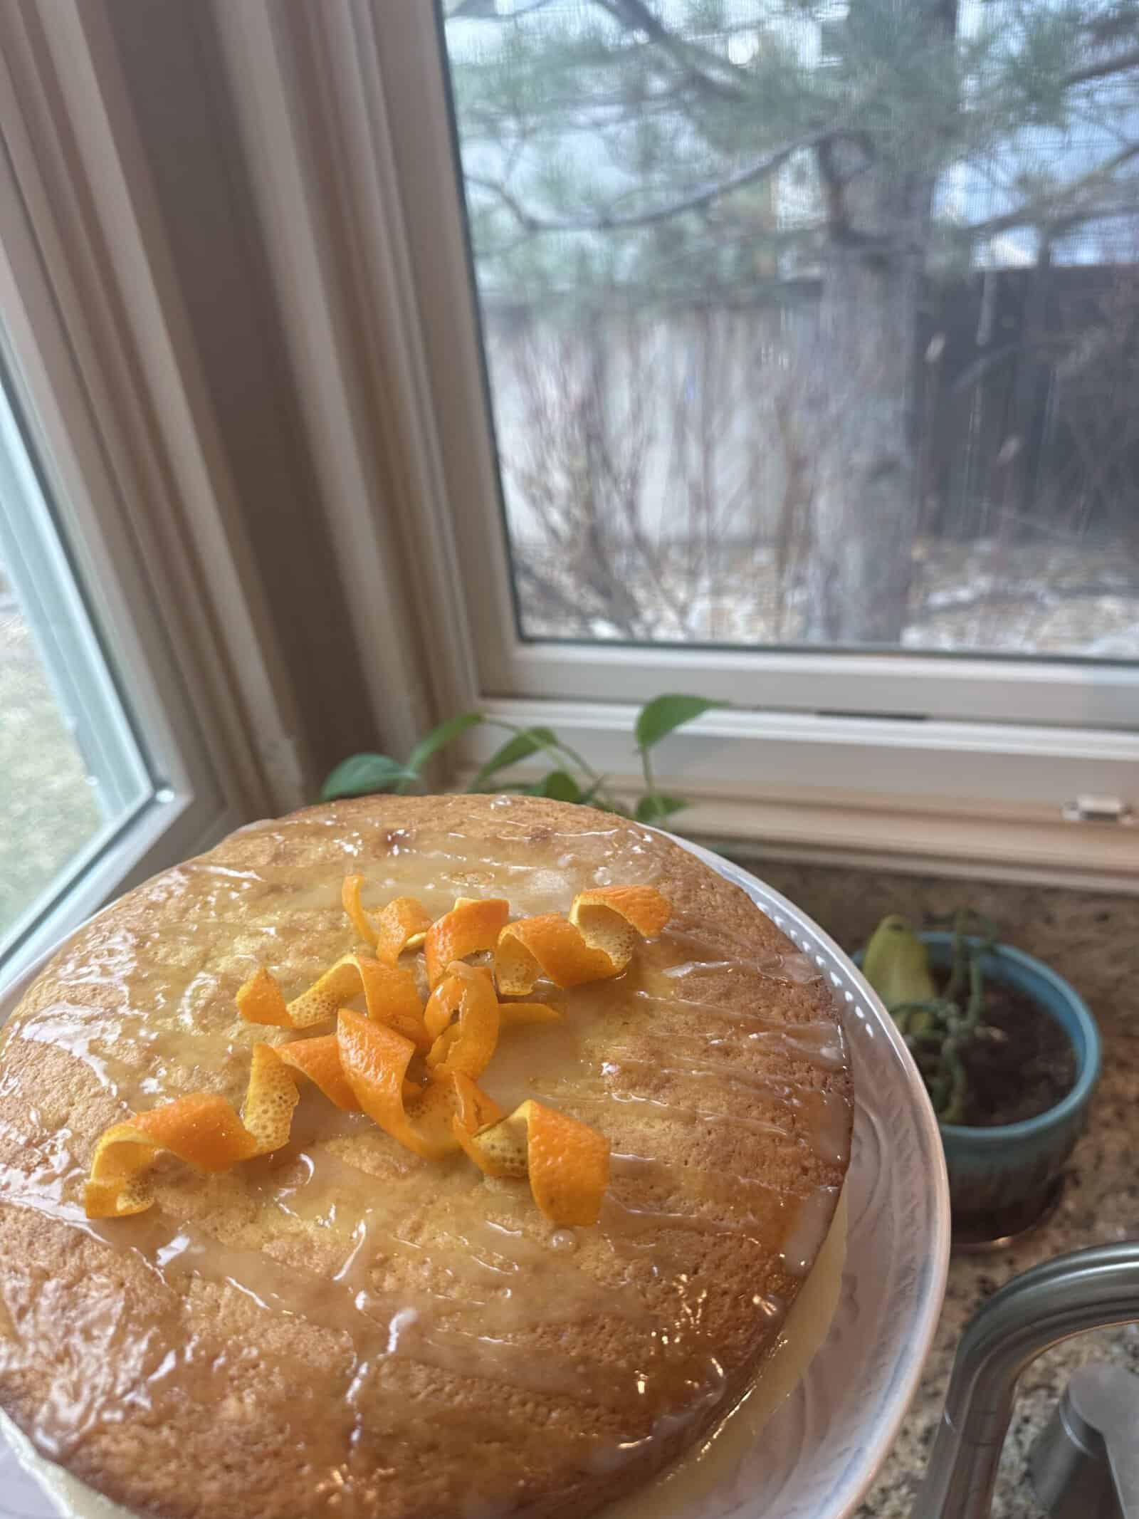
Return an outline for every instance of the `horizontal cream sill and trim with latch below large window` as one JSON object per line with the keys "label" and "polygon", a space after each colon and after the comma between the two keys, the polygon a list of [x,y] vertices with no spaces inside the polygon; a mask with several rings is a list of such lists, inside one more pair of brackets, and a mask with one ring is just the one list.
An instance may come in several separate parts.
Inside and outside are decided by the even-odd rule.
{"label": "horizontal cream sill and trim with latch below large window", "polygon": [[[632,801],[644,790],[632,738],[635,706],[530,700],[481,706],[489,718],[515,726],[551,726],[612,778],[618,796]],[[472,729],[472,764],[487,760],[504,737],[489,726]],[[1130,737],[1124,743],[1130,750]],[[1010,738],[989,725],[721,711],[661,744],[653,772],[659,790],[693,804],[670,828],[746,843],[759,858],[1139,892],[1139,829],[1065,822],[1046,790],[1051,784],[1062,791],[1074,761],[1081,773],[1115,776],[1118,735],[1069,731],[1065,744],[1057,752],[1048,729],[1019,728]],[[957,767],[961,785],[955,793],[914,790],[913,776],[931,764]],[[882,781],[876,796],[843,787],[855,766],[875,767]],[[1046,799],[1025,793],[1016,805],[993,804],[993,766],[1025,775],[1045,788]],[[797,779],[776,784],[775,770]],[[471,773],[465,767],[463,778]]]}

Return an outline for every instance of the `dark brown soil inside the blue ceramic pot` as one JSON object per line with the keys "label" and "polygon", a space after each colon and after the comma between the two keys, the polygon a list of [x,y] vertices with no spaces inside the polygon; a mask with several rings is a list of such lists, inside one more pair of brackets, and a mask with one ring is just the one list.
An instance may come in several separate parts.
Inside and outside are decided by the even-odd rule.
{"label": "dark brown soil inside the blue ceramic pot", "polygon": [[1075,1086],[1075,1050],[1054,1018],[1014,986],[987,980],[983,1021],[999,1039],[978,1039],[961,1051],[969,1098],[961,1123],[970,1129],[1019,1124],[1046,1112]]}

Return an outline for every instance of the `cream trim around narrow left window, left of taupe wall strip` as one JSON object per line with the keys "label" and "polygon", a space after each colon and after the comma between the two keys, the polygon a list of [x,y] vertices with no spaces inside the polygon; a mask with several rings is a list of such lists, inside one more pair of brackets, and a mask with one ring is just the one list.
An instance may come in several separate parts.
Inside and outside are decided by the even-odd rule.
{"label": "cream trim around narrow left window, left of taupe wall strip", "polygon": [[305,799],[100,0],[0,9],[0,308],[32,448],[153,796],[5,957]]}

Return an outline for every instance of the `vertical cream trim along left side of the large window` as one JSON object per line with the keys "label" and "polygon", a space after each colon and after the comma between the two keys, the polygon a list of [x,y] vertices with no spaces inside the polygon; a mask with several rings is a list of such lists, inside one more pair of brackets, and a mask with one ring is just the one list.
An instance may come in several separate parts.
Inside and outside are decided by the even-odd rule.
{"label": "vertical cream trim along left side of the large window", "polygon": [[372,15],[217,0],[214,21],[366,699],[407,750],[475,676],[418,333],[390,316],[415,290]]}

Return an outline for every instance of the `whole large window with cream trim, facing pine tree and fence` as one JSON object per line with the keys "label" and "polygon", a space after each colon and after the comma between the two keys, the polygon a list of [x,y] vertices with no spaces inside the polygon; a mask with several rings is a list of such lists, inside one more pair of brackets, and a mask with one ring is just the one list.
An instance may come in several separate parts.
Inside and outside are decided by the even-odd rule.
{"label": "whole large window with cream trim, facing pine tree and fence", "polygon": [[730,703],[665,761],[697,832],[1133,884],[1118,8],[374,12],[219,24],[282,304],[398,451],[430,679],[618,781],[641,700]]}

